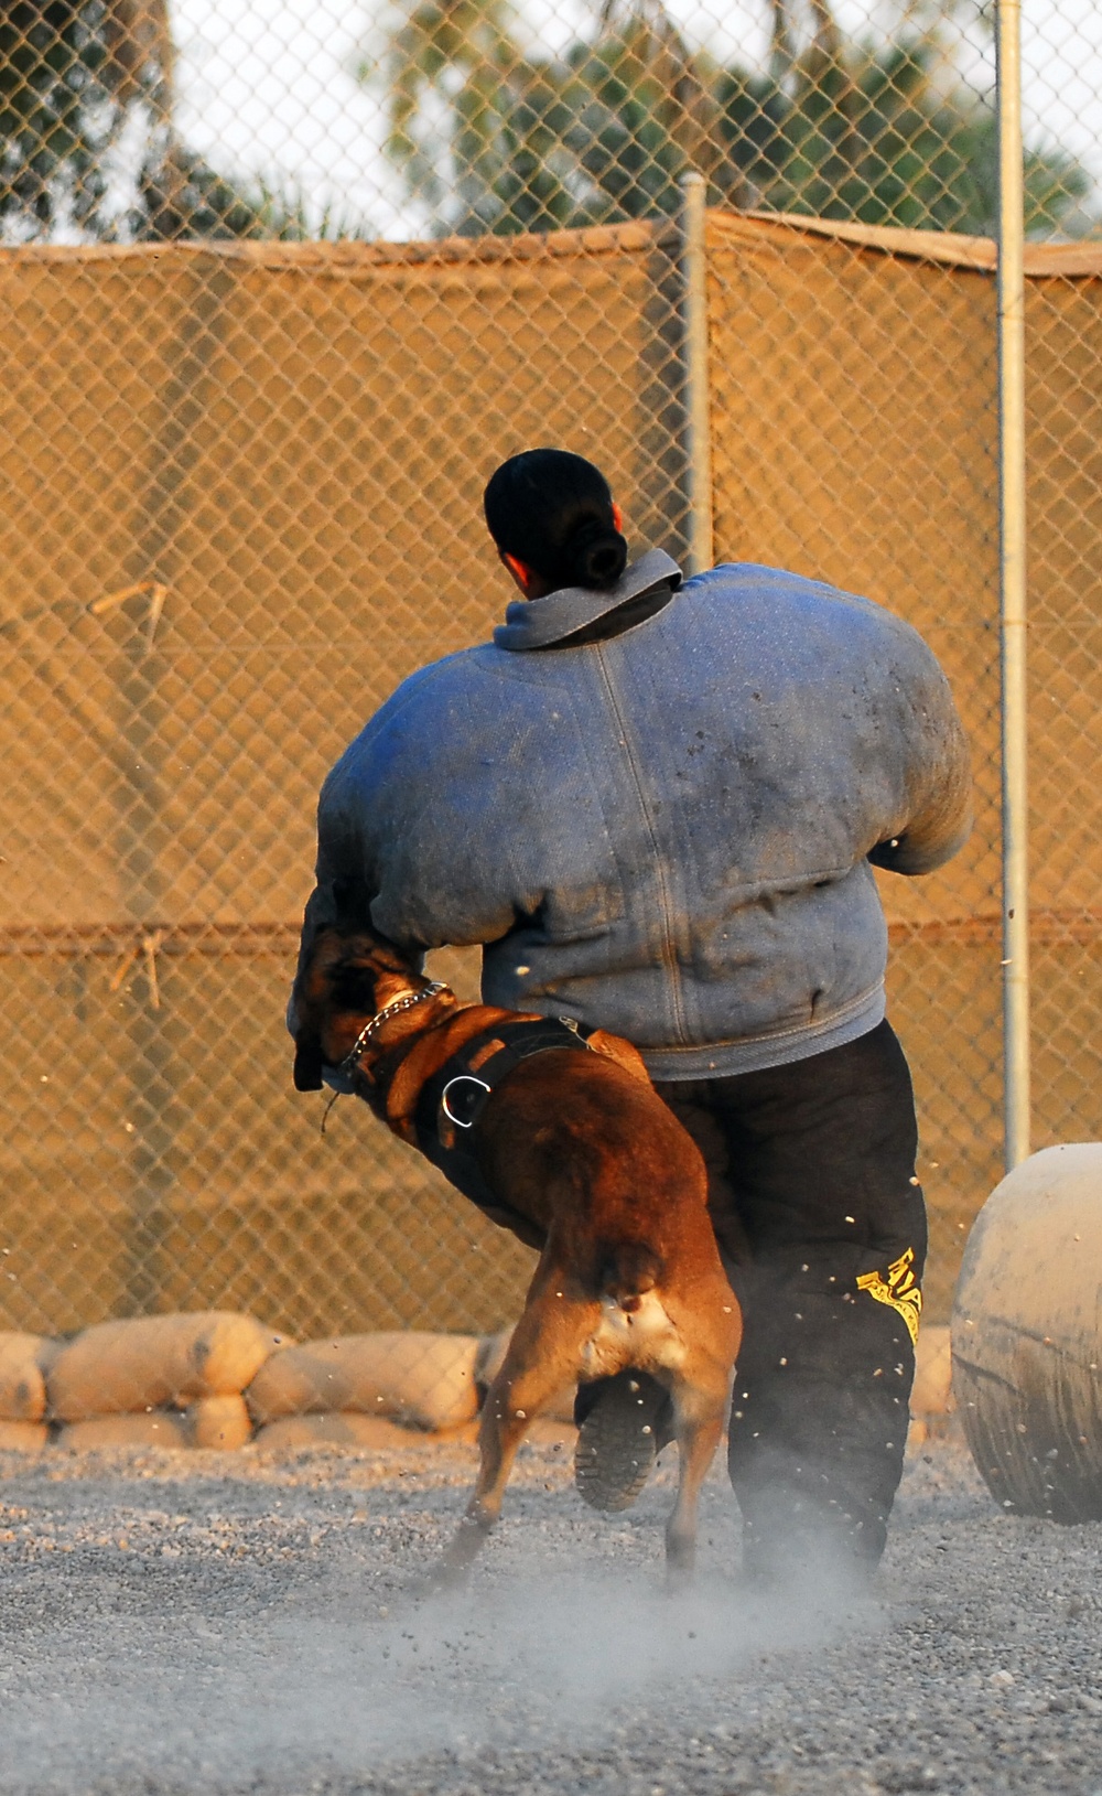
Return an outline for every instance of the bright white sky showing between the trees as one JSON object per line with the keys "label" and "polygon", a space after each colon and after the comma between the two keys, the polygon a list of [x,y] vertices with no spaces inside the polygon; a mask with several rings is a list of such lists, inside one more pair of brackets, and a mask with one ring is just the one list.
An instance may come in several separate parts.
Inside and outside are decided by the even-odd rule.
{"label": "bright white sky showing between the trees", "polygon": [[[562,48],[592,18],[583,0],[519,0],[535,43]],[[693,43],[720,57],[761,63],[765,0],[669,0]],[[896,9],[897,11],[897,9]],[[406,203],[382,156],[380,95],[355,79],[377,54],[388,0],[171,0],[178,45],[178,122],[217,169],[302,194],[312,214],[364,219],[382,237],[427,221]],[[838,0],[842,25],[883,23],[881,0]],[[393,16],[393,14],[389,14]],[[722,23],[720,23],[722,20]],[[991,47],[976,32],[960,66],[991,83]],[[1102,181],[1102,4],[1025,0],[1023,108],[1034,144],[1059,142]]]}

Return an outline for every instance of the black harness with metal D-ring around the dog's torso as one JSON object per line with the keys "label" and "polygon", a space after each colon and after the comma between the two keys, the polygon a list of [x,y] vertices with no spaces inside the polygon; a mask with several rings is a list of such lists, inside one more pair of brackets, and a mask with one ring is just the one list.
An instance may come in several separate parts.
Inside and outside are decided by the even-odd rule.
{"label": "black harness with metal D-ring around the dog's torso", "polygon": [[535,1225],[490,1191],[474,1151],[474,1126],[492,1092],[520,1061],[562,1047],[589,1052],[590,1034],[594,1029],[569,1017],[495,1024],[472,1036],[422,1088],[413,1122],[425,1160],[494,1221],[501,1218],[504,1227],[513,1227],[513,1218],[522,1221],[522,1239],[533,1239]]}

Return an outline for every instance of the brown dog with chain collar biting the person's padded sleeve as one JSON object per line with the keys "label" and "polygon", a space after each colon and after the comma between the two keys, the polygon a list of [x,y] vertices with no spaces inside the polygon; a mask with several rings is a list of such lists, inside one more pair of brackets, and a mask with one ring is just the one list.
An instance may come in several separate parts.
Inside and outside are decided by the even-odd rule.
{"label": "brown dog with chain collar biting the person's padded sleeve", "polygon": [[[459,1006],[368,932],[325,930],[296,988],[296,1085],[316,1085],[323,1063],[345,1063],[357,1096],[416,1146],[425,1083],[476,1036],[519,1020]],[[589,1047],[594,1052],[565,1047],[522,1060],[488,1094],[470,1131],[503,1216],[546,1245],[486,1394],[481,1469],[445,1559],[450,1573],[470,1564],[497,1521],[533,1417],[565,1385],[625,1369],[648,1372],[673,1399],[680,1478],[666,1561],[671,1573],[693,1566],[698,1494],[723,1433],[739,1309],[720,1264],[698,1148],[628,1042],[598,1031]]]}

